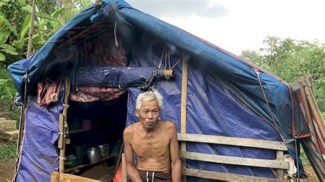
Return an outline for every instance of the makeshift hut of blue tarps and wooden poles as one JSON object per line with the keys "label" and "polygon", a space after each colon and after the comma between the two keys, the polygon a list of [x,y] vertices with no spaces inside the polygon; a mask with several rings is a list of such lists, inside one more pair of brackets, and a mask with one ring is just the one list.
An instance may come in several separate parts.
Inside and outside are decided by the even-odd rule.
{"label": "makeshift hut of blue tarps and wooden poles", "polygon": [[[109,180],[136,96],[152,88],[178,127],[188,181],[282,179],[289,164],[303,175],[295,141],[310,133],[287,83],[125,1],[80,12],[9,71],[26,105],[16,181]],[[95,146],[101,156],[87,157]]]}

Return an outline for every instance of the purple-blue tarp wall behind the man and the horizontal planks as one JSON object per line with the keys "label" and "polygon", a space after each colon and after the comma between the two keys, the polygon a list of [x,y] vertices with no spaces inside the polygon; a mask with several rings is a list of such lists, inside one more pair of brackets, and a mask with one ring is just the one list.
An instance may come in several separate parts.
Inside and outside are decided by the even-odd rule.
{"label": "purple-blue tarp wall behind the man and the horizontal planks", "polygon": [[[148,47],[138,47],[135,49],[135,57],[132,65],[152,67],[159,64],[157,55],[152,52],[144,52]],[[149,55],[149,57],[147,57]],[[157,60],[156,62],[145,62],[145,60]],[[176,64],[176,59],[171,59],[171,64]],[[278,132],[269,125],[266,120],[258,116],[250,107],[243,104],[237,96],[232,94],[217,80],[217,75],[202,74],[203,70],[197,68],[201,62],[189,63],[189,82],[186,107],[186,133],[196,133],[205,135],[222,135],[237,138],[253,138],[262,140],[281,141]],[[163,94],[164,109],[160,118],[172,120],[178,126],[180,132],[180,97],[181,97],[181,75],[182,64],[175,66],[176,76],[169,81],[159,81],[155,88]],[[136,96],[139,89],[128,88],[128,119],[127,125],[136,122],[138,118],[134,116]],[[186,144],[187,151],[197,153],[208,153],[216,155],[228,155],[237,157],[251,157],[258,159],[276,159],[276,151],[265,149],[245,148],[236,146],[222,146],[217,144]],[[258,177],[271,177],[274,174],[269,169],[250,168],[243,166],[231,166],[223,164],[213,164],[203,161],[188,161],[188,168],[202,170],[231,172],[235,174],[245,174]],[[189,178],[190,181],[200,179]],[[201,179],[202,180],[202,179]]]}

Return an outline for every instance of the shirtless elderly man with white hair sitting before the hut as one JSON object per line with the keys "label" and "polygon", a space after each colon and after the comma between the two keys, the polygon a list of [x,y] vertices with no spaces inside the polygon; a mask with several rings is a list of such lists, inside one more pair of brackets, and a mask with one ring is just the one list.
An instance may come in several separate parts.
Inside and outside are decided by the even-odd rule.
{"label": "shirtless elderly man with white hair sitting before the hut", "polygon": [[156,91],[139,94],[136,99],[139,122],[123,132],[126,172],[132,181],[181,180],[176,125],[169,120],[158,120],[162,100]]}

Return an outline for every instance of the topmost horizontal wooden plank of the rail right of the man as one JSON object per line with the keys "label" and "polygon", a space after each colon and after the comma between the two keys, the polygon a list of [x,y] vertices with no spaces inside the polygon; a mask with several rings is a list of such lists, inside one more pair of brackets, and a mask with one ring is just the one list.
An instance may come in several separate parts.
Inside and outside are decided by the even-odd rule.
{"label": "topmost horizontal wooden plank of the rail right of the man", "polygon": [[225,144],[232,146],[247,146],[254,148],[267,148],[277,151],[287,151],[284,142],[276,142],[269,140],[256,140],[249,138],[233,138],[217,135],[198,135],[189,133],[178,133],[178,140],[186,142],[202,142],[209,144]]}

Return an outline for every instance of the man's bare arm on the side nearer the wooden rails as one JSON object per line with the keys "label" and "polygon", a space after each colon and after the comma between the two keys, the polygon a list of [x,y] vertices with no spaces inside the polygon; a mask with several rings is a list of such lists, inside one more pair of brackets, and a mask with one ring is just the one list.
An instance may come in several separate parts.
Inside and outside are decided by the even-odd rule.
{"label": "man's bare arm on the side nearer the wooden rails", "polygon": [[180,148],[178,146],[176,125],[171,126],[171,142],[169,144],[171,153],[171,179],[173,182],[181,181],[182,179],[182,163],[180,162]]}

